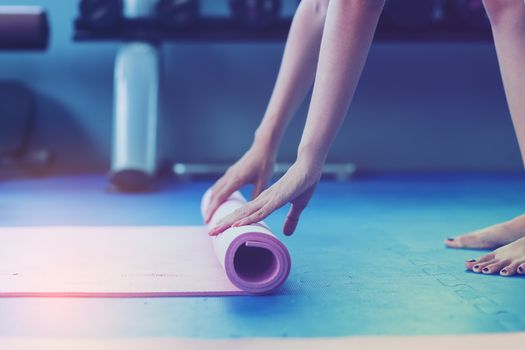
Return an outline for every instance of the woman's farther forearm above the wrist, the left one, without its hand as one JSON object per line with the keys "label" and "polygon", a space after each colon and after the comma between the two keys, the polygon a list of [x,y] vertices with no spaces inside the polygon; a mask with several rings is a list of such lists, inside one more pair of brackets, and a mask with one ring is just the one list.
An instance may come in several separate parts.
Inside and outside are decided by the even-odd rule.
{"label": "woman's farther forearm above the wrist, the left one, without its hand", "polygon": [[312,86],[328,0],[303,0],[294,16],[281,67],[255,143],[274,152]]}

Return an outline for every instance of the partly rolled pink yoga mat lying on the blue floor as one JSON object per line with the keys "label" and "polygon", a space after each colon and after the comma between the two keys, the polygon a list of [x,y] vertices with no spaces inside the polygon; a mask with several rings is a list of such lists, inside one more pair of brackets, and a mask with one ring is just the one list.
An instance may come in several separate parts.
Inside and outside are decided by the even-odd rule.
{"label": "partly rolled pink yoga mat lying on the blue floor", "polygon": [[[233,194],[211,225],[245,202]],[[262,294],[286,280],[290,256],[264,223],[216,238],[207,232],[205,226],[0,228],[0,297]]]}

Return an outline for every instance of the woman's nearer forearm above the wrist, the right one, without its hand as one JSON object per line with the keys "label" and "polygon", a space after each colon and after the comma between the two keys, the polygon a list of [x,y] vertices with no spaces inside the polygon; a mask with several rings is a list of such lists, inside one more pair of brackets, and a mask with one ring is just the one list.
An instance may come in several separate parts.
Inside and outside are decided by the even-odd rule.
{"label": "woman's nearer forearm above the wrist, the right one, without its hand", "polygon": [[331,0],[298,158],[324,162],[350,106],[382,5],[380,0]]}

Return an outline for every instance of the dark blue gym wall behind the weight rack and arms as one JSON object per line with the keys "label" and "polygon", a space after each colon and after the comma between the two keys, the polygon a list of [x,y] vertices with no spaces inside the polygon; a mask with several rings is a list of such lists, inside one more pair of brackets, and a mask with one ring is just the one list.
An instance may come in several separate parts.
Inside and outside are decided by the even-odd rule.
{"label": "dark blue gym wall behind the weight rack and arms", "polygon": [[[204,10],[227,13],[222,1]],[[0,0],[0,5],[13,1]],[[74,42],[77,1],[17,0],[48,9],[49,49],[0,53],[0,79],[38,96],[34,146],[58,172],[109,164],[113,61],[118,42]],[[294,0],[284,12],[291,15]],[[167,43],[162,48],[162,153],[170,161],[233,162],[250,145],[284,42]],[[303,105],[280,159],[292,161]],[[330,153],[362,172],[519,172],[522,163],[490,40],[379,40]]]}

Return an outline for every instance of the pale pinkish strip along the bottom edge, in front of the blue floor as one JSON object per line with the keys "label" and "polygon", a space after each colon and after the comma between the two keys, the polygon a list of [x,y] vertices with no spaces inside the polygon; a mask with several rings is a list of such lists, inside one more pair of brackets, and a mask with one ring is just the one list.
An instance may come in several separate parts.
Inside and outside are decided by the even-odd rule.
{"label": "pale pinkish strip along the bottom edge, in front of the blue floor", "polygon": [[447,336],[358,336],[327,338],[2,338],[10,350],[523,350],[525,333]]}

